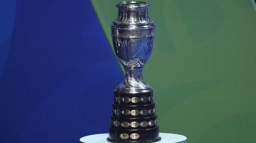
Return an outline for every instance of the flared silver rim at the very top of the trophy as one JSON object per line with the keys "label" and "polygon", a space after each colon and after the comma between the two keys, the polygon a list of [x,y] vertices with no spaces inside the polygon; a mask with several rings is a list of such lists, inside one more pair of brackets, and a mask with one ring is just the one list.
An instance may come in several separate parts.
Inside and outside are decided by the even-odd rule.
{"label": "flared silver rim at the very top of the trophy", "polygon": [[137,9],[137,8],[147,8],[149,7],[149,4],[146,2],[140,2],[140,1],[124,1],[124,2],[119,2],[116,6],[118,8]]}

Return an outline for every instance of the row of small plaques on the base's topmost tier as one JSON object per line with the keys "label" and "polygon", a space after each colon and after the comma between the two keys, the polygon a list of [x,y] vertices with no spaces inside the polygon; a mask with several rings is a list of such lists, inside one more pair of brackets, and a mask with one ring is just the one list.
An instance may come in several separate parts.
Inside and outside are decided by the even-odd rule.
{"label": "row of small plaques on the base's topmost tier", "polygon": [[132,102],[132,103],[138,103],[139,101],[141,101],[141,102],[147,102],[147,101],[153,101],[153,99],[154,99],[154,97],[151,97],[151,96],[149,96],[149,97],[146,97],[146,96],[144,96],[144,97],[141,97],[141,98],[138,98],[138,97],[132,97],[132,98],[129,98],[129,97],[123,97],[123,98],[121,98],[121,97],[115,97],[115,100],[117,101],[117,102],[125,102],[125,103],[128,103],[128,102]]}

